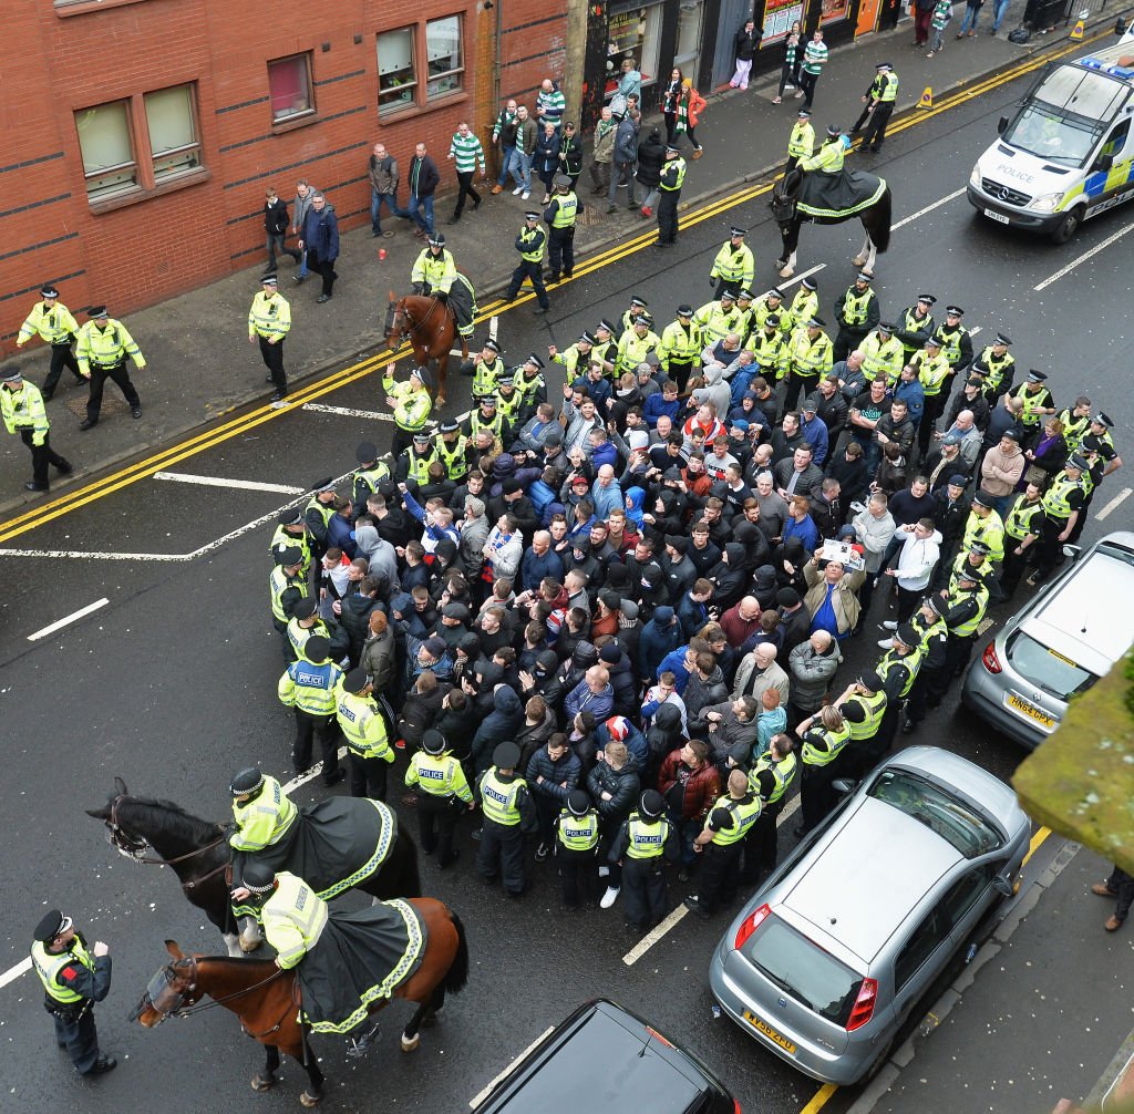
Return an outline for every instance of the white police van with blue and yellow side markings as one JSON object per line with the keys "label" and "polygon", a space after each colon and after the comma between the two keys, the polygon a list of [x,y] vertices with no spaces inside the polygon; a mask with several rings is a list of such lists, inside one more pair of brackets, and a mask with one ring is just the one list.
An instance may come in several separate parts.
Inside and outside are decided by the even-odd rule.
{"label": "white police van with blue and yellow side markings", "polygon": [[1134,23],[1109,47],[1056,62],[1000,118],[968,201],[990,220],[1064,244],[1084,221],[1134,197]]}

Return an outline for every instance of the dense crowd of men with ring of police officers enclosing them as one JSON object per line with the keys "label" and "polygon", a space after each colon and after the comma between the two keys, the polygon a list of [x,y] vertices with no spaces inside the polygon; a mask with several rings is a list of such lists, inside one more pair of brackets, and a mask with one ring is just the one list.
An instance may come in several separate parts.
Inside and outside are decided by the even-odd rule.
{"label": "dense crowd of men with ring of police officers enclosing them", "polygon": [[[797,780],[818,825],[1122,465],[1106,414],[1017,382],[1004,335],[974,353],[959,306],[883,322],[862,276],[832,337],[813,281],[753,295],[744,235],[665,328],[634,296],[511,370],[489,340],[463,422],[389,465],[361,445],[271,543],[296,770],[318,737],[339,780],[341,732],[352,792],[384,799],[405,749],[439,867],[479,809],[486,880],[523,894],[533,835],[568,905],[601,878],[636,929],[668,911],[667,862],[704,917],[770,870]],[[883,652],[836,682],[875,596]]]}

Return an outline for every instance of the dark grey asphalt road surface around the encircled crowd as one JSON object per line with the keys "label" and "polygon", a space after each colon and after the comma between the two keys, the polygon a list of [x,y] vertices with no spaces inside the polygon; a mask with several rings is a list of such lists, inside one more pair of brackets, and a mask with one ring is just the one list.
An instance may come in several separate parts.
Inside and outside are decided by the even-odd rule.
{"label": "dark grey asphalt road surface around the encircled crowd", "polygon": [[[978,218],[964,199],[968,170],[991,140],[993,121],[1022,91],[1022,83],[1006,86],[902,132],[875,161],[891,182],[898,222],[877,268],[883,315],[929,287],[940,306],[957,302],[967,310],[966,324],[981,330],[978,349],[997,330],[1006,331],[1023,369],[1050,373],[1060,406],[1085,393],[1105,405],[1119,430],[1129,429],[1134,414],[1120,370],[1128,309],[1122,248],[1106,247],[1035,289],[1125,228],[1125,211],[1100,218],[1072,244],[1056,248]],[[765,161],[764,152],[753,160]],[[533,319],[530,305],[508,311],[500,320],[508,363],[530,351],[543,353],[549,343],[566,346],[600,317],[620,313],[632,293],[649,299],[659,326],[679,301],[708,301],[711,261],[733,221],[752,229],[756,286],[771,285],[779,239],[758,199],[688,227],[675,252],[648,247],[553,290],[548,319]],[[799,269],[823,264],[816,278],[828,317],[853,277],[849,259],[860,242],[857,225],[804,229]],[[552,397],[558,387],[552,377]],[[378,379],[363,378],[320,404],[381,410]],[[466,404],[467,381],[459,381],[450,407],[457,412]],[[171,470],[304,489],[320,476],[349,471],[357,441],[386,445],[391,431],[388,423],[295,410]],[[1125,472],[1108,481],[1095,508],[1125,482]],[[208,1106],[221,1114],[245,1112],[249,1103],[280,1109],[297,1099],[302,1072],[295,1066],[286,1069],[286,1087],[274,1096],[249,1095],[247,1080],[260,1066],[260,1050],[223,1011],[170,1022],[155,1032],[127,1023],[126,1014],[163,962],[163,939],[205,953],[220,952],[220,942],[183,900],[169,871],[117,856],[101,826],[83,812],[103,803],[116,775],[132,791],[170,797],[214,819],[226,816],[234,770],[259,762],[289,776],[291,719],[274,697],[280,660],[268,622],[271,526],[246,528],[290,498],[147,479],[3,543],[0,715],[8,835],[0,860],[7,896],[0,911],[0,971],[26,956],[31,929],[51,905],[71,912],[90,937],[109,942],[115,987],[99,1010],[100,1030],[122,1069],[94,1085],[76,1080],[65,1054],[51,1047],[39,984],[24,974],[0,987],[0,1048],[12,1109],[66,1105],[101,1112],[145,1105],[180,1114]],[[1132,507],[1124,503],[1105,524],[1092,523],[1085,539],[1131,525]],[[108,602],[86,617],[29,640],[103,599]],[[882,617],[875,605],[873,618]],[[858,640],[840,676],[875,655],[870,640]],[[917,741],[948,745],[1004,777],[1023,757],[950,707],[926,721]],[[404,759],[397,768],[404,768]],[[296,797],[306,803],[322,792],[307,785]],[[412,816],[405,819],[413,824]],[[396,1047],[398,1022],[407,1016],[400,1003],[389,1011],[380,1046],[362,1064],[345,1058],[341,1043],[321,1041],[329,1077],[324,1108],[467,1108],[519,1049],[577,1003],[600,994],[644,1013],[703,1056],[746,1111],[788,1114],[812,1102],[812,1081],[711,1015],[705,965],[723,918],[708,925],[686,918],[627,967],[621,957],[636,940],[624,929],[617,906],[565,914],[548,867],[533,867],[531,893],[506,904],[499,891],[476,879],[467,835],[460,845],[464,860],[456,871],[438,875],[426,862],[424,880],[426,891],[457,909],[468,927],[468,990],[450,1001],[443,1023],[425,1033],[415,1056]]]}

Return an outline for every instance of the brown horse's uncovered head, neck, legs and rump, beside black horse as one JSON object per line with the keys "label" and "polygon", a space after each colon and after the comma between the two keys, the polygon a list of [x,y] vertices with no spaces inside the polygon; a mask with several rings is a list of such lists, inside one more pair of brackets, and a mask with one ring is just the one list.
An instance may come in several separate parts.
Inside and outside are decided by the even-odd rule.
{"label": "brown horse's uncovered head, neck, legs and rump, beside black horse", "polygon": [[[409,904],[425,923],[426,943],[421,965],[393,991],[395,997],[417,1003],[401,1033],[403,1052],[416,1050],[421,1044],[418,1030],[432,1024],[445,1005],[446,993],[457,994],[468,981],[468,944],[457,914],[432,897],[415,897]],[[150,980],[130,1020],[152,1029],[168,1018],[187,1018],[214,1005],[225,1006],[240,1019],[244,1032],[268,1049],[264,1070],[253,1075],[252,1089],[266,1091],[276,1086],[282,1052],[299,1061],[307,1072],[310,1088],[299,1102],[318,1106],[323,1100],[323,1073],[297,1020],[295,971],[280,970],[274,961],[185,955],[174,940],[166,940],[166,948],[174,962]],[[213,1001],[197,1005],[206,995]],[[376,1013],[384,1005],[386,999],[375,1002],[370,1012]],[[376,1036],[374,1026],[355,1041],[355,1053],[366,1050]]]}

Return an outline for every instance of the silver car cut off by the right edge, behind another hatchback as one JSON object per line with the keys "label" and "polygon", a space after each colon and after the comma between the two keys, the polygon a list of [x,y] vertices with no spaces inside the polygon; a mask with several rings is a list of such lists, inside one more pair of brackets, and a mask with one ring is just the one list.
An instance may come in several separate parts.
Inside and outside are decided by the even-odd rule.
{"label": "silver car cut off by the right edge, behind another hatchback", "polygon": [[1031,750],[1134,642],[1134,533],[1111,533],[992,639],[965,674],[962,699]]}

